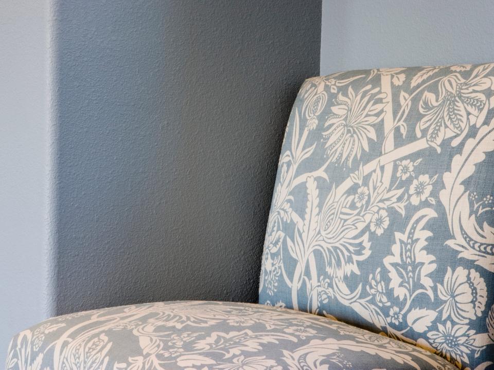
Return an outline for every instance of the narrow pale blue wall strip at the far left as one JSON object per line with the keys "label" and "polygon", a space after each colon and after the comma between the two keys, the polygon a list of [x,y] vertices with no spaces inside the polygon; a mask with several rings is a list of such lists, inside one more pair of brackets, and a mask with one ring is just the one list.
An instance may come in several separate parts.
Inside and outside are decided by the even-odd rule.
{"label": "narrow pale blue wall strip at the far left", "polygon": [[0,2],[0,366],[47,315],[47,5]]}

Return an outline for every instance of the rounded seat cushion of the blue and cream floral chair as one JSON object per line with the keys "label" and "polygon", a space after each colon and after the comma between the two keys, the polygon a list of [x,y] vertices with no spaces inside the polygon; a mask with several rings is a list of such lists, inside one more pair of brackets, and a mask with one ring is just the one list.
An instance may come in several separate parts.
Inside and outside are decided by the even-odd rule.
{"label": "rounded seat cushion of the blue and cream floral chair", "polygon": [[160,302],[73,313],[13,338],[7,370],[454,369],[424,349],[308,313]]}

